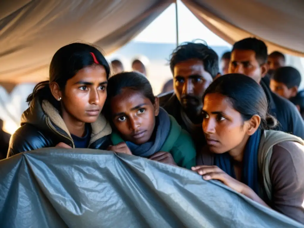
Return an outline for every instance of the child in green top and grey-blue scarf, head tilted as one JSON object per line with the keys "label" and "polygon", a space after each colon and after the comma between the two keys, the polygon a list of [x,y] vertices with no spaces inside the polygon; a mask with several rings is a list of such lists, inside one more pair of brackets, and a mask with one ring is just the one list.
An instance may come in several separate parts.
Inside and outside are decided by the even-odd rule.
{"label": "child in green top and grey-blue scarf, head tilted", "polygon": [[105,110],[113,127],[108,150],[187,169],[195,165],[190,135],[159,107],[143,74],[123,72],[109,78]]}

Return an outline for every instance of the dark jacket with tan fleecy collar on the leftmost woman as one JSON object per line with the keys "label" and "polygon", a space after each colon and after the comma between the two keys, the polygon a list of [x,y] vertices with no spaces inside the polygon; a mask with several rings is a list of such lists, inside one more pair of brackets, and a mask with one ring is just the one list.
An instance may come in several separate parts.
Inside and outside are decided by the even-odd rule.
{"label": "dark jacket with tan fleecy collar on the leftmost woman", "polygon": [[[109,123],[101,115],[91,127],[88,148],[105,150],[109,146],[109,135],[112,132]],[[36,98],[22,114],[21,127],[12,135],[7,157],[24,151],[54,147],[60,142],[75,147],[58,110],[50,102],[40,102]]]}

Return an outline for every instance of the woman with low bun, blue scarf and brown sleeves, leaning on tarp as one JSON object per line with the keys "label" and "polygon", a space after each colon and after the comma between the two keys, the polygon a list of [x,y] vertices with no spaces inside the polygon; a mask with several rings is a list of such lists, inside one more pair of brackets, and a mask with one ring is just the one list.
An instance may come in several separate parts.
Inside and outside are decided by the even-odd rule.
{"label": "woman with low bun, blue scarf and brown sleeves, leaning on tarp", "polygon": [[302,139],[270,130],[266,95],[253,79],[226,74],[206,89],[202,128],[207,146],[193,171],[304,223]]}

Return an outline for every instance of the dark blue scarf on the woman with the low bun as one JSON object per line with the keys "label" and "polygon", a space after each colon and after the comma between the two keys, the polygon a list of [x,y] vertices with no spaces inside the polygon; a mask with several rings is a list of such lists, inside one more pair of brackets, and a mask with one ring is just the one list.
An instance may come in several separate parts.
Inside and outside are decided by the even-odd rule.
{"label": "dark blue scarf on the woman with the low bun", "polygon": [[[243,158],[243,170],[241,182],[249,186],[259,195],[259,181],[258,181],[258,164],[257,156],[259,150],[259,144],[261,140],[261,130],[257,130],[247,141],[244,158]],[[222,169],[229,176],[236,178],[233,164],[231,164],[232,157],[228,152],[223,154],[216,154],[214,163],[220,169]]]}

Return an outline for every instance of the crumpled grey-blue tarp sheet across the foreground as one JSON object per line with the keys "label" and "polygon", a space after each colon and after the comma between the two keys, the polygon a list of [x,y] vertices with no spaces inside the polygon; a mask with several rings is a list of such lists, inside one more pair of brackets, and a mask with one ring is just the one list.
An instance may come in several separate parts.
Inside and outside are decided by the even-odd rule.
{"label": "crumpled grey-blue tarp sheet across the foreground", "polygon": [[192,171],[45,148],[0,161],[1,228],[303,227]]}

